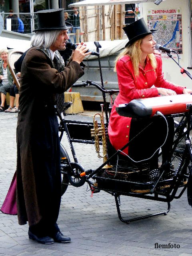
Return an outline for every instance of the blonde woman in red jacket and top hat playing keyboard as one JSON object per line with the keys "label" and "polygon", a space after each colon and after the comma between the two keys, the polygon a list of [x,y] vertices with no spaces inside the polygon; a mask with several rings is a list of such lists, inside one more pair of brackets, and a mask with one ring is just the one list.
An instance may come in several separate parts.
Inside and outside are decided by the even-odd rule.
{"label": "blonde woman in red jacket and top hat playing keyboard", "polygon": [[[118,150],[141,132],[148,124],[152,125],[144,130],[123,151],[135,161],[149,158],[164,143],[167,133],[166,122],[161,117],[135,119],[118,115],[116,107],[138,98],[188,94],[192,90],[177,86],[164,79],[162,72],[162,58],[155,50],[156,41],[144,19],[141,18],[123,28],[129,42],[116,59],[115,69],[118,76],[120,93],[118,94],[110,115],[108,134],[110,142]],[[151,88],[152,86],[154,88]],[[169,133],[165,150],[162,148],[163,162],[172,146],[174,123],[172,118],[166,118]],[[127,160],[128,158],[124,155]],[[151,168],[158,168],[158,152],[150,160]]]}

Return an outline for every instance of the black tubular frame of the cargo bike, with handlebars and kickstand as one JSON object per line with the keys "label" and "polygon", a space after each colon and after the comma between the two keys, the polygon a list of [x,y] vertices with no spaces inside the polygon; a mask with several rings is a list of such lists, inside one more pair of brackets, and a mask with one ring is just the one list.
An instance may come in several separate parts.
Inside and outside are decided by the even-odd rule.
{"label": "black tubular frame of the cargo bike, with handlebars and kickstand", "polygon": [[[98,42],[94,42],[97,48],[97,52],[99,52],[99,48],[100,45]],[[102,80],[102,71],[101,71],[101,66],[100,66],[100,58],[98,56],[98,62],[99,62],[99,68],[100,68],[100,75],[101,75],[101,83],[102,85],[100,86],[99,84],[96,84],[92,81],[86,81],[86,82],[82,82],[81,84],[74,84],[75,87],[78,86],[89,86],[89,85],[94,85],[96,86],[103,95],[103,99],[104,99],[104,106],[105,106],[105,114],[106,114],[106,127],[108,126],[108,112],[107,112],[107,106],[106,106],[106,97],[105,94],[106,92],[108,92],[110,94],[110,96],[116,92],[118,92],[118,90],[108,90],[106,91],[103,85],[103,80]],[[112,102],[110,102],[110,110],[112,108]],[[160,169],[162,168],[162,173],[161,176],[158,180],[156,180],[156,182],[133,182],[133,181],[129,181],[129,180],[117,180],[117,179],[112,179],[112,178],[105,178],[102,177],[102,180],[105,180],[106,182],[122,182],[122,184],[125,184],[126,186],[128,185],[140,185],[140,186],[149,186],[150,187],[150,192],[147,194],[142,194],[142,193],[138,193],[138,192],[122,192],[122,191],[118,191],[118,190],[112,190],[109,188],[99,188],[97,186],[95,186],[94,182],[90,181],[90,178],[95,179],[96,175],[102,170],[102,167],[104,167],[106,164],[108,164],[110,162],[110,160],[112,160],[112,158],[115,158],[118,154],[120,154],[120,151],[123,151],[125,148],[128,147],[128,145],[130,144],[130,142],[132,142],[132,140],[134,140],[134,138],[132,140],[130,140],[128,143],[126,143],[121,149],[120,151],[117,150],[110,158],[108,158],[108,160],[106,160],[103,164],[101,164],[98,168],[96,168],[96,170],[86,170],[85,174],[86,174],[86,182],[88,183],[88,185],[90,186],[90,189],[92,192],[94,192],[94,190],[97,189],[101,189],[104,190],[105,192],[112,194],[115,198],[115,202],[116,202],[116,208],[117,208],[117,212],[118,212],[118,217],[120,218],[120,220],[122,222],[126,222],[129,223],[131,221],[134,220],[140,220],[140,219],[144,219],[144,218],[149,218],[152,216],[157,216],[157,215],[166,215],[169,210],[170,210],[170,202],[174,199],[174,198],[180,198],[182,196],[182,194],[184,193],[184,191],[186,190],[188,183],[185,185],[180,185],[181,181],[183,178],[189,178],[189,175],[192,177],[192,166],[189,166],[190,163],[192,163],[192,149],[191,149],[191,144],[190,144],[190,131],[192,130],[192,118],[191,118],[191,112],[188,113],[184,113],[184,114],[174,114],[171,115],[172,117],[182,117],[180,124],[178,125],[178,128],[176,128],[175,132],[178,134],[178,138],[173,142],[173,147],[172,150],[170,151],[170,155],[172,156],[174,150],[176,150],[176,147],[178,145],[178,143],[180,142],[180,140],[182,140],[183,138],[186,137],[186,148],[184,150],[184,152],[182,152],[182,160],[180,162],[180,166],[178,166],[177,168],[177,173],[174,176],[173,179],[170,180],[163,180],[161,181],[160,178],[162,176],[162,174],[164,173],[163,167],[164,164],[162,164],[162,166],[160,167]],[[185,118],[185,121],[184,121]],[[76,154],[75,154],[75,150],[73,147],[73,142],[78,142],[78,143],[85,143],[85,144],[94,144],[94,140],[93,139],[80,139],[80,138],[71,138],[70,136],[70,131],[68,129],[68,125],[70,124],[80,124],[80,125],[86,125],[86,126],[93,126],[92,122],[78,122],[78,121],[71,121],[71,120],[65,120],[64,118],[61,118],[61,123],[60,123],[60,131],[61,131],[61,136],[60,139],[62,138],[63,132],[66,132],[67,135],[67,139],[68,142],[70,144],[70,149],[72,151],[72,155],[74,158],[74,161],[76,163],[78,163]],[[152,124],[152,122],[148,125],[150,126]],[[145,129],[148,128],[148,126],[146,126]],[[185,126],[187,127],[186,131],[184,131]],[[142,133],[144,130],[142,130],[140,133]],[[140,134],[139,133],[139,134]],[[137,134],[135,136],[135,138],[139,135]],[[102,144],[102,142],[100,142],[100,144]],[[187,168],[189,169],[189,175],[186,174],[186,170]],[[156,191],[155,188],[157,186],[161,186],[161,184],[164,184],[164,182],[170,182],[170,187],[166,189],[165,192],[161,192],[161,191]],[[181,192],[176,195],[178,188],[179,187],[183,187]],[[150,195],[148,195],[150,194]],[[119,203],[120,203],[120,195],[125,195],[125,196],[133,196],[133,197],[138,197],[138,198],[144,198],[144,199],[150,199],[150,200],[156,200],[156,201],[160,201],[160,202],[167,202],[168,204],[168,209],[166,211],[163,212],[158,212],[155,214],[149,214],[149,215],[145,215],[142,217],[137,217],[137,218],[132,218],[129,220],[124,220],[121,216],[121,212],[120,212],[120,208],[119,208]]]}

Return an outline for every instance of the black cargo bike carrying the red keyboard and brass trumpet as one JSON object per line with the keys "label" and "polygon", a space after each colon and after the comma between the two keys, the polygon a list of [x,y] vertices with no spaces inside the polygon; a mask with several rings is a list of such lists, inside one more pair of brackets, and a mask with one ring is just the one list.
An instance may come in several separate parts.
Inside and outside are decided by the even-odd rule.
{"label": "black cargo bike carrying the red keyboard and brass trumpet", "polygon": [[[98,42],[95,42],[95,44],[97,52],[99,52],[101,46]],[[139,163],[130,160],[129,156],[124,155],[122,158],[122,151],[129,146],[131,141],[120,148],[120,150],[111,150],[112,145],[110,144],[107,132],[108,122],[112,108],[112,95],[119,91],[106,90],[104,88],[99,56],[98,61],[101,85],[88,80],[80,84],[74,84],[73,86],[96,86],[96,88],[102,92],[103,96],[104,104],[101,104],[102,112],[94,115],[93,122],[67,120],[66,116],[58,113],[60,118],[60,140],[64,132],[66,132],[70,150],[74,158],[74,161],[71,162],[66,149],[61,144],[62,195],[68,188],[68,184],[80,187],[86,182],[92,193],[98,193],[102,190],[114,196],[118,217],[125,223],[152,216],[166,215],[170,211],[170,202],[173,199],[180,198],[186,189],[188,192],[188,202],[191,205],[192,145],[190,131],[192,130],[192,95],[182,94],[156,97],[155,101],[154,98],[136,99],[116,108],[118,114],[122,116],[138,119],[150,118],[150,124],[152,124],[154,118],[157,118],[157,116],[163,118],[166,124],[167,117],[174,118],[174,140],[172,141],[167,160],[164,161],[163,164],[160,164],[158,168],[151,169],[151,158],[147,159],[147,161],[140,161]],[[108,109],[106,94],[109,94],[111,99]],[[66,110],[72,103],[65,102],[64,104]],[[97,117],[99,117],[100,122],[96,120]],[[150,124],[148,126],[150,126]],[[147,129],[148,126],[144,128],[144,130]],[[134,140],[134,138],[132,140]],[[73,143],[95,144],[98,157],[103,158],[103,164],[95,170],[84,170],[82,165],[78,162]],[[156,150],[160,162],[162,146],[163,144]],[[168,208],[162,212],[125,219],[122,218],[120,212],[121,195],[167,202]]]}

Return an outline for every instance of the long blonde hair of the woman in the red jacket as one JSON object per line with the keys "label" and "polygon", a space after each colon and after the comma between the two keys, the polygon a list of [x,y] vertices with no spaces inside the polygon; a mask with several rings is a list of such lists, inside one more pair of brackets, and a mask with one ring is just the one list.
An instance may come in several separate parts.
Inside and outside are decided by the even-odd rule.
{"label": "long blonde hair of the woman in the red jacket", "polygon": [[[133,70],[135,73],[135,76],[139,75],[139,63],[141,61],[141,55],[142,55],[142,51],[140,49],[140,44],[142,42],[142,38],[138,39],[137,41],[133,42],[132,44],[126,46],[124,48],[124,50],[122,50],[122,52],[120,52],[120,54],[117,56],[116,60],[115,60],[115,68],[114,71],[116,72],[116,64],[117,61],[125,55],[129,55],[131,60],[132,60],[132,64],[133,64]],[[150,59],[151,65],[153,68],[157,67],[157,61],[156,58],[154,56],[154,54],[148,54],[148,57]]]}

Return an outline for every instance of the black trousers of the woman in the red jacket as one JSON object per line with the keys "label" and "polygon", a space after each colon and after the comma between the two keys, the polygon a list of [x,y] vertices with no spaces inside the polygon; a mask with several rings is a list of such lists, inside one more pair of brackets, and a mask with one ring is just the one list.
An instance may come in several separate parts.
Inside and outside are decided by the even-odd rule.
{"label": "black trousers of the woman in the red jacket", "polygon": [[[172,117],[167,117],[166,120],[168,122],[168,137],[164,146],[162,147],[162,162],[164,162],[167,158],[170,161],[169,158],[171,158],[171,156],[169,155],[169,152],[172,149],[172,142],[174,137],[174,120]],[[129,141],[131,142],[129,144],[128,155],[134,161],[150,158],[154,152],[164,143],[166,134],[167,124],[162,117],[157,116],[153,118],[142,119],[132,118],[129,134]],[[109,140],[107,143],[108,142]],[[112,147],[112,145],[108,144],[108,156],[112,156],[112,154],[115,152],[116,150]],[[150,160],[143,161],[136,165],[140,166],[140,164],[150,162],[151,168],[158,168],[158,153],[159,150]],[[126,160],[127,162],[130,161],[124,155],[120,155],[119,159]],[[132,163],[132,161],[130,161],[130,163]]]}

